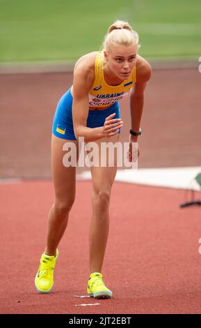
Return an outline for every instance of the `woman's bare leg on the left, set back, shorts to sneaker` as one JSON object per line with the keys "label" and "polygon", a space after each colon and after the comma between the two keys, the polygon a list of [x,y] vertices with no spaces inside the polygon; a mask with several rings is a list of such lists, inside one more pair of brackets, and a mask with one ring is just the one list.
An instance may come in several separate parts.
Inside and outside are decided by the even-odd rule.
{"label": "woman's bare leg on the left, set back, shorts to sneaker", "polygon": [[77,147],[77,140],[63,140],[55,135],[51,138],[51,172],[54,183],[55,201],[49,211],[47,232],[47,255],[56,255],[56,248],[67,226],[68,216],[74,203],[76,190],[76,167],[63,165],[63,144],[73,142]]}

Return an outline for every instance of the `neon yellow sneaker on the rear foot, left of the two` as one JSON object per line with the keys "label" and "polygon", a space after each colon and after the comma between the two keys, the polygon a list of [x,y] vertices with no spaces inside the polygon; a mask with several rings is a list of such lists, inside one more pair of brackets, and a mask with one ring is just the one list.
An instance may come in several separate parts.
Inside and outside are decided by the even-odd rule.
{"label": "neon yellow sneaker on the rear foot, left of the two", "polygon": [[35,276],[35,287],[38,292],[51,292],[54,285],[54,267],[58,259],[58,249],[56,256],[46,255],[45,252],[40,258],[40,267]]}

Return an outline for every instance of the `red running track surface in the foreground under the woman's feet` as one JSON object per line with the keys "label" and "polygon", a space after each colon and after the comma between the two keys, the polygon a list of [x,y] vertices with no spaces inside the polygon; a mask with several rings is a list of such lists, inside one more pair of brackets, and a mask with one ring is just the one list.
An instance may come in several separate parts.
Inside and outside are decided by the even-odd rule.
{"label": "red running track surface in the foreground under the woman's feet", "polygon": [[[180,209],[184,191],[115,182],[103,274],[113,299],[86,295],[91,181],[77,198],[60,244],[54,291],[34,277],[45,248],[51,181],[1,184],[1,313],[201,313],[199,207]],[[199,197],[197,193],[197,197]],[[97,306],[79,306],[80,304]]]}

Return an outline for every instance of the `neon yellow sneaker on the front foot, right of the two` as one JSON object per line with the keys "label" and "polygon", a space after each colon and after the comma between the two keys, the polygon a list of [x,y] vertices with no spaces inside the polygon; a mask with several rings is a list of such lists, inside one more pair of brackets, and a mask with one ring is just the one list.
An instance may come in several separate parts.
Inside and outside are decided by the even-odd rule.
{"label": "neon yellow sneaker on the front foot, right of the two", "polygon": [[90,274],[87,293],[90,295],[90,297],[95,297],[95,299],[111,299],[113,295],[111,290],[106,288],[106,285],[102,280],[102,274],[99,272]]}

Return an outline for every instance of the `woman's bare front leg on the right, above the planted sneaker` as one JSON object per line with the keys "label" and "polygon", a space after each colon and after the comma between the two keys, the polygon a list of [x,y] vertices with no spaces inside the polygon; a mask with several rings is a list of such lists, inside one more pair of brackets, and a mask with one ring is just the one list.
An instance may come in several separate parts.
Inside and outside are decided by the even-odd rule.
{"label": "woman's bare front leg on the right, above the planted sneaker", "polygon": [[[99,145],[99,160],[101,156],[101,142],[118,142],[120,135],[115,135],[109,139],[102,138],[97,141]],[[91,167],[93,179],[92,205],[93,215],[90,222],[89,231],[89,264],[90,273],[101,272],[106,250],[109,229],[109,213],[108,207],[111,197],[111,187],[117,172],[117,158],[115,153],[115,161],[113,167]]]}

